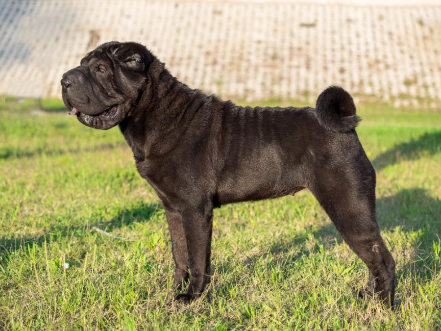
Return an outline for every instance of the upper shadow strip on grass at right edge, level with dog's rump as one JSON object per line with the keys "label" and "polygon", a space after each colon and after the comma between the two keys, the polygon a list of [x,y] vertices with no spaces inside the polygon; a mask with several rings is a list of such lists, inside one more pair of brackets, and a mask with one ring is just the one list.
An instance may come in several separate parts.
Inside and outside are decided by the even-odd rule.
{"label": "upper shadow strip on grass at right edge, level with dog's rump", "polygon": [[395,145],[391,150],[378,155],[372,164],[376,170],[400,161],[416,160],[422,155],[433,155],[441,151],[441,130],[424,133],[417,139]]}

